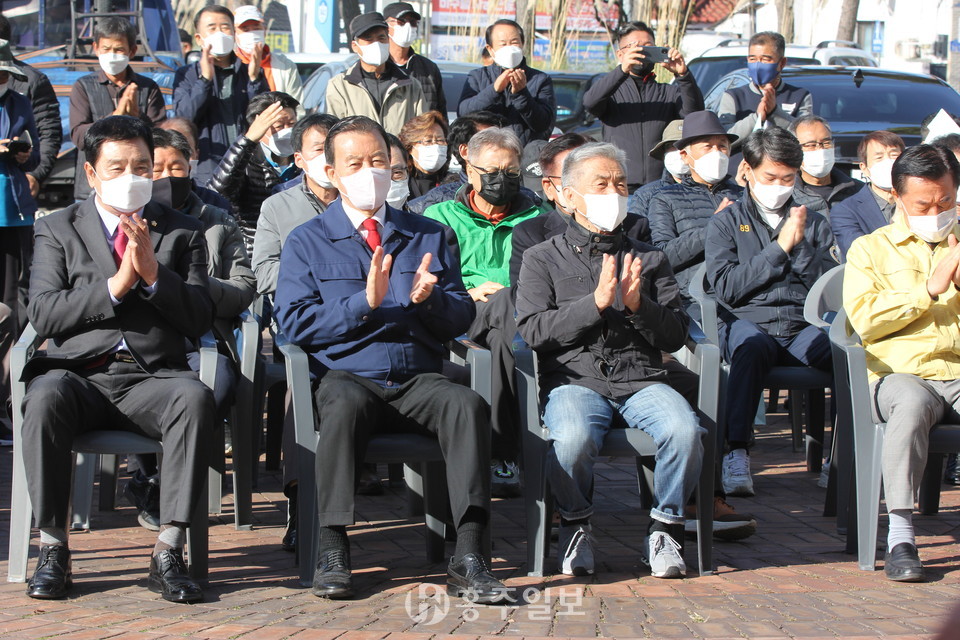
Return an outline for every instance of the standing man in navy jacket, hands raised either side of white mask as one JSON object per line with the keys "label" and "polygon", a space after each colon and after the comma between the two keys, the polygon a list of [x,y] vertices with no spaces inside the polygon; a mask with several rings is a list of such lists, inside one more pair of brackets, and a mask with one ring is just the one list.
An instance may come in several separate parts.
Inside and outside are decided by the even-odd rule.
{"label": "standing man in navy jacket, hands raised either side of white mask", "polygon": [[200,162],[194,178],[201,185],[213,175],[220,159],[247,130],[250,99],[269,91],[260,59],[243,63],[234,51],[233,14],[226,7],[204,7],[193,20],[200,61],[177,69],[173,108],[178,117],[196,123]]}

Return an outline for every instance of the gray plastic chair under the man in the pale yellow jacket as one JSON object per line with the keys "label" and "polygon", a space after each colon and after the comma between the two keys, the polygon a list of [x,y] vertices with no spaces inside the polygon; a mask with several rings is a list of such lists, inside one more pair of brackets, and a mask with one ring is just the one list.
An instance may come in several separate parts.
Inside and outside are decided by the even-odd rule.
{"label": "gray plastic chair under the man in the pale yellow jacket", "polygon": [[[843,352],[853,420],[857,498],[854,503],[856,514],[851,522],[856,523],[857,564],[864,571],[873,571],[876,568],[877,521],[880,517],[882,487],[881,453],[886,424],[873,420],[873,400],[867,381],[867,354],[842,309],[830,326],[830,341]],[[939,424],[930,431],[927,466],[920,485],[920,513],[932,515],[939,511],[943,456],[957,452],[960,452],[960,425]]]}

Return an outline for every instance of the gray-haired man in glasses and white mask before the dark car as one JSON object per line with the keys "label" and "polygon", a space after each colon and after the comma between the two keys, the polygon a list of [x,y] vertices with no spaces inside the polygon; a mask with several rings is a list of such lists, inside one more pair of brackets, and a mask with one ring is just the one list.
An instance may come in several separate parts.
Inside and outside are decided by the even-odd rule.
{"label": "gray-haired man in glasses and white mask before the dark car", "polygon": [[801,116],[787,130],[800,142],[803,164],[793,190],[799,204],[829,214],[830,207],[863,188],[863,183],[835,168],[833,132],[820,116]]}

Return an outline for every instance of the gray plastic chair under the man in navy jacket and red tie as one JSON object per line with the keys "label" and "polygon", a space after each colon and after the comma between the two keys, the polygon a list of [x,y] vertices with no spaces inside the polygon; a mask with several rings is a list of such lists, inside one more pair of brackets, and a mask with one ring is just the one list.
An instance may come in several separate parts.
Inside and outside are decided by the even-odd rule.
{"label": "gray plastic chair under the man in navy jacket and red tie", "polygon": [[[310,586],[317,564],[320,546],[320,528],[317,521],[316,450],[318,437],[313,414],[313,392],[308,356],[289,342],[282,333],[274,337],[277,348],[283,354],[287,385],[291,391],[291,411],[297,439],[297,465],[299,491],[297,492],[298,564],[300,584]],[[471,388],[489,402],[490,352],[471,345],[461,351],[462,361],[470,366]],[[321,408],[322,410],[322,408]],[[489,458],[486,455],[484,459]],[[404,465],[407,490],[414,502],[423,501],[423,513],[427,527],[426,555],[430,562],[444,559],[445,531],[449,498],[446,491],[446,471],[440,444],[433,438],[417,434],[378,434],[367,446],[367,462]],[[292,461],[288,461],[292,463]],[[419,467],[419,469],[417,468]],[[416,508],[414,508],[416,510]],[[487,511],[490,505],[487,503]],[[490,557],[490,527],[486,529],[484,551]]]}

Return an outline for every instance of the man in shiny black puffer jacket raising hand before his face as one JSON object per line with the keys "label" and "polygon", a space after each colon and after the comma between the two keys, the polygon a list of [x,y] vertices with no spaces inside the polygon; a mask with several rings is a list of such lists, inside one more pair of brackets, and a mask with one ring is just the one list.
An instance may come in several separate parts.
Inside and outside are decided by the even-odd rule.
{"label": "man in shiny black puffer jacket raising hand before his face", "polygon": [[300,103],[279,91],[261,93],[247,107],[250,128],[237,137],[213,172],[207,187],[234,207],[247,253],[253,253],[260,205],[273,188],[298,175],[293,163],[291,133]]}

